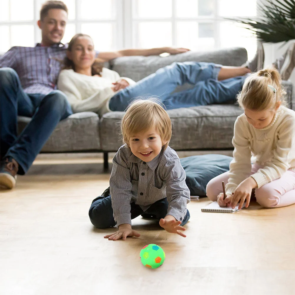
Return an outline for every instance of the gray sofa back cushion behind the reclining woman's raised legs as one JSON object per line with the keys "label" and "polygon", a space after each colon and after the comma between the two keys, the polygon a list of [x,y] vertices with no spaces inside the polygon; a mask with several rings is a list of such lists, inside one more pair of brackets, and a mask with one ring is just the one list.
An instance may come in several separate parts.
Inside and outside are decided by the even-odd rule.
{"label": "gray sofa back cushion behind the reclining woman's raised legs", "polygon": [[[247,61],[247,50],[242,47],[232,47],[214,51],[188,51],[186,53],[161,57],[153,56],[124,56],[110,61],[112,70],[121,77],[128,77],[139,81],[155,73],[159,68],[173,62],[204,61],[221,65],[240,66]],[[177,89],[179,91],[179,89]]]}

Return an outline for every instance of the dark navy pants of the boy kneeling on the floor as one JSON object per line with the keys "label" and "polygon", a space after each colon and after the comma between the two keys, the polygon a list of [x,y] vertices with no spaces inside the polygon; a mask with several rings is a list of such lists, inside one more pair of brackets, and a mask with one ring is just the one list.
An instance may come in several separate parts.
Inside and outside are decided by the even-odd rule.
{"label": "dark navy pants of the boy kneeling on the floor", "polygon": [[[156,201],[151,204],[150,207],[143,211],[139,205],[136,205],[134,202],[131,204],[131,219],[139,216],[143,213],[148,213],[155,215],[155,219],[160,220],[167,215],[168,210],[168,201],[167,198]],[[112,200],[111,196],[98,196],[92,201],[92,204],[89,209],[89,218],[91,223],[97,228],[108,228],[116,225],[116,222],[113,217],[112,209]],[[182,223],[183,226],[189,221],[190,214],[189,210],[186,211],[186,216],[184,217]]]}

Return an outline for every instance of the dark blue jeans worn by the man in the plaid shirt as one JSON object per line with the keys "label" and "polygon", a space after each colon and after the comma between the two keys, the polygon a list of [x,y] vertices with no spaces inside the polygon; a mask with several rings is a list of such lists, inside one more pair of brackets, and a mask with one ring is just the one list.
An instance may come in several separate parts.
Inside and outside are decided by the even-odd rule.
{"label": "dark blue jeans worn by the man in the plaid shirt", "polygon": [[[19,163],[19,174],[30,168],[55,126],[72,114],[65,94],[53,90],[47,95],[24,93],[11,68],[0,68],[1,155]],[[17,136],[17,116],[32,117]]]}

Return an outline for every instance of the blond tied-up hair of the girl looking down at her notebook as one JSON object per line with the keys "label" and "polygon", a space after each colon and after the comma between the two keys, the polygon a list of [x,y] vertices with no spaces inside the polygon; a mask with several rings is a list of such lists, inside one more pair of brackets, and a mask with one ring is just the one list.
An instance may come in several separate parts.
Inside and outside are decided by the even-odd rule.
{"label": "blond tied-up hair of the girl looking down at her notebook", "polygon": [[251,74],[237,96],[242,108],[253,111],[273,109],[281,101],[285,105],[286,91],[281,85],[280,73],[275,68],[266,68]]}

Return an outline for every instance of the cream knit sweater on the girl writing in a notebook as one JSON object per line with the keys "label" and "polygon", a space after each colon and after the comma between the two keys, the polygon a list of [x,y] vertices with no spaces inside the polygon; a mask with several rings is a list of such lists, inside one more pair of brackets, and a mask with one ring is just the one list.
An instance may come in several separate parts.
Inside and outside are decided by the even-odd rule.
{"label": "cream knit sweater on the girl writing in a notebook", "polygon": [[251,175],[258,188],[280,178],[288,169],[295,171],[295,112],[281,106],[263,129],[254,128],[245,114],[240,115],[235,122],[232,144],[235,150],[226,185],[228,194],[250,176],[251,155],[252,163],[262,167]]}

